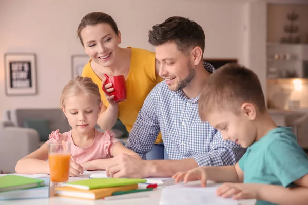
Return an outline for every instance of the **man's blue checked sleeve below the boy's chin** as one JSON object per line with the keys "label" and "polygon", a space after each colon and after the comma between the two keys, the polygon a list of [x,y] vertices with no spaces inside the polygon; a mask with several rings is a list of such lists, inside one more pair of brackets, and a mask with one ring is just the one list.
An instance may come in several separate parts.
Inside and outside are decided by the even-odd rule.
{"label": "man's blue checked sleeve below the boy's chin", "polygon": [[229,140],[223,140],[221,133],[216,130],[210,143],[210,151],[193,156],[198,166],[227,166],[235,163],[243,156],[246,149]]}

